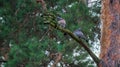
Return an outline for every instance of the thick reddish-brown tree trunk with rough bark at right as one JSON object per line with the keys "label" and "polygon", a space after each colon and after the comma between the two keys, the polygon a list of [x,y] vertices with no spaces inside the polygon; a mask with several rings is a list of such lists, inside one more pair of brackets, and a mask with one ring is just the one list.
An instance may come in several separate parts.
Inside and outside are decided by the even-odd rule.
{"label": "thick reddish-brown tree trunk with rough bark at right", "polygon": [[120,0],[102,0],[101,13],[99,67],[120,67]]}

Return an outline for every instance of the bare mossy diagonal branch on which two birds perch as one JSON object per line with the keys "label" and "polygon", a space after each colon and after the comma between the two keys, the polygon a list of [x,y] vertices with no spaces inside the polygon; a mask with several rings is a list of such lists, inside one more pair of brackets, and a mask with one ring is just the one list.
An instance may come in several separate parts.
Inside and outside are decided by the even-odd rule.
{"label": "bare mossy diagonal branch on which two birds perch", "polygon": [[82,46],[89,53],[89,55],[93,58],[95,63],[98,65],[98,63],[100,62],[100,59],[92,52],[92,50],[87,46],[87,44],[85,44],[84,42],[82,42],[82,40],[77,38],[70,30],[61,28],[59,26],[56,27],[56,25],[53,23],[50,23],[50,25],[56,28],[57,30],[60,30],[61,32],[64,32],[70,35],[75,41],[77,41],[80,44],[80,46]]}

